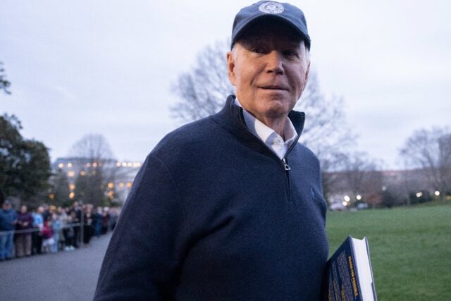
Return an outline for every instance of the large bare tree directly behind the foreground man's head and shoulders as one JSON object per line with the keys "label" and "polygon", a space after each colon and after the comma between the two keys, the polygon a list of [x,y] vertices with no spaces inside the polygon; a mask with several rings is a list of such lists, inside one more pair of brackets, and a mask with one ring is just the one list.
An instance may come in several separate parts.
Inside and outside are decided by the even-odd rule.
{"label": "large bare tree directly behind the foreground man's head and shoulders", "polygon": [[[229,45],[226,40],[205,47],[197,56],[195,67],[180,74],[172,87],[180,97],[171,106],[173,118],[182,122],[195,121],[223,108],[226,97],[235,91],[227,73]],[[311,72],[295,109],[307,114],[301,142],[319,156],[323,171],[333,170],[355,140],[345,119],[342,99],[326,98],[320,91],[316,73]]]}

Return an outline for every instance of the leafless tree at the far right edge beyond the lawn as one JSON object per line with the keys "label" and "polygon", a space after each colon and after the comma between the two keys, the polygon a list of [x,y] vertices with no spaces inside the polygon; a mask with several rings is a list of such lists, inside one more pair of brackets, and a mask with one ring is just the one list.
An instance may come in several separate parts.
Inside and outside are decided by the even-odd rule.
{"label": "leafless tree at the far right edge beyond the lawn", "polygon": [[400,156],[409,168],[421,168],[433,190],[445,202],[451,190],[451,130],[432,128],[416,130],[400,149]]}

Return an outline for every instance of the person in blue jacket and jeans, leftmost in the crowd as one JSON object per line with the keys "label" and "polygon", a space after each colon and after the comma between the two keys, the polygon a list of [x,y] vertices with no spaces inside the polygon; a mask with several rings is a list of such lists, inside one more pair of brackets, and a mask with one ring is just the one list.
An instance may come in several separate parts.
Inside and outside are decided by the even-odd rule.
{"label": "person in blue jacket and jeans, leftmost in the crowd", "polygon": [[11,202],[7,199],[0,209],[0,261],[13,257],[13,238],[16,222],[16,211],[11,209]]}

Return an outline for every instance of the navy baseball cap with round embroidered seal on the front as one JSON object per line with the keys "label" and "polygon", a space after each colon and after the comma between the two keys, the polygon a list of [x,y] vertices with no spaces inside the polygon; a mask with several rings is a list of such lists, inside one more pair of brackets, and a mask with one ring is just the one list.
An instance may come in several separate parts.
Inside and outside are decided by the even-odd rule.
{"label": "navy baseball cap with round embroidered seal on the front", "polygon": [[251,6],[242,8],[237,13],[233,21],[231,47],[233,47],[249,25],[269,18],[283,21],[293,27],[301,35],[302,39],[304,39],[307,49],[310,49],[310,37],[307,31],[307,21],[305,20],[304,13],[296,6],[276,1],[259,1]]}

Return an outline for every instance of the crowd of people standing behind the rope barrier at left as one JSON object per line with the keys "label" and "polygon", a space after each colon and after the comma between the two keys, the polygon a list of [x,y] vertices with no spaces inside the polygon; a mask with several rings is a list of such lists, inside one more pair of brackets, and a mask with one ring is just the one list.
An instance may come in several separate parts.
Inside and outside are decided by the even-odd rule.
{"label": "crowd of people standing behind the rope barrier at left", "polygon": [[0,209],[0,261],[35,254],[73,251],[116,226],[120,209],[74,202],[70,207],[42,204],[16,211],[6,200]]}

